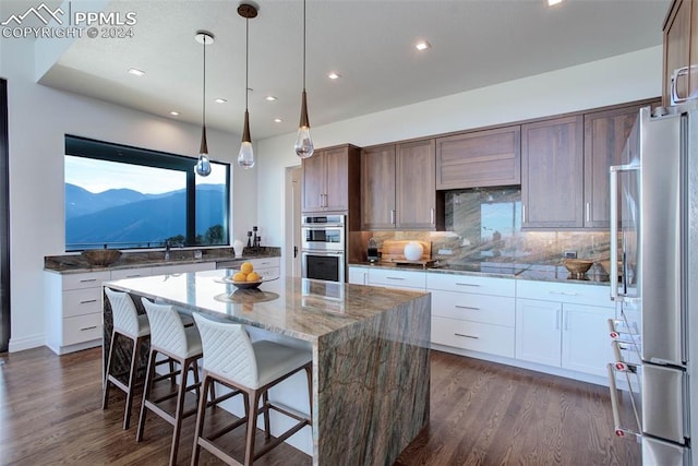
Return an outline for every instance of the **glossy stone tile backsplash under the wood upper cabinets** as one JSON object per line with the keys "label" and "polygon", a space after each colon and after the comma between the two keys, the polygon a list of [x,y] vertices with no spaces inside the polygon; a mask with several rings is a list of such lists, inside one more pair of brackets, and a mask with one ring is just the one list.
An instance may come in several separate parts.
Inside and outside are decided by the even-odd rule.
{"label": "glossy stone tile backsplash under the wood upper cabinets", "polygon": [[509,262],[557,265],[564,251],[579,259],[609,258],[607,231],[522,231],[518,187],[448,191],[446,231],[364,231],[378,247],[386,239],[432,242],[432,258],[448,262]]}

